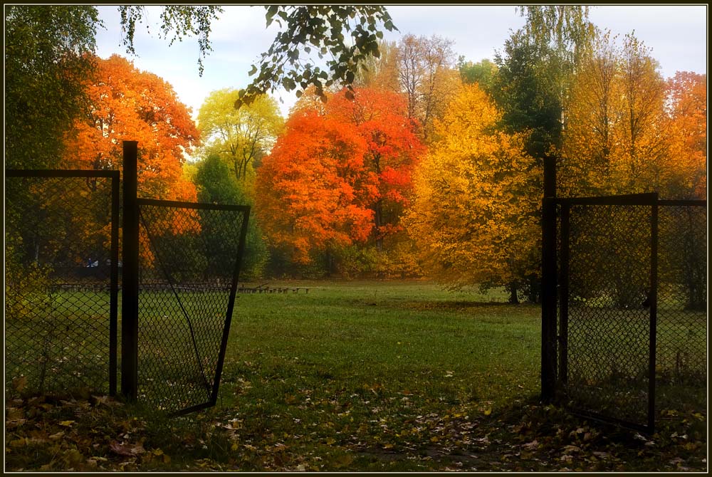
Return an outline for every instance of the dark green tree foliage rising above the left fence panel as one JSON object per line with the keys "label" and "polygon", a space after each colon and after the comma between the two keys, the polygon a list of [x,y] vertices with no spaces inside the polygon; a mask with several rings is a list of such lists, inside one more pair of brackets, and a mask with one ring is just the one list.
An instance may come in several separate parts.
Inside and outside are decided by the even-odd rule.
{"label": "dark green tree foliage rising above the left fence panel", "polygon": [[5,167],[56,167],[100,25],[92,6],[5,6]]}

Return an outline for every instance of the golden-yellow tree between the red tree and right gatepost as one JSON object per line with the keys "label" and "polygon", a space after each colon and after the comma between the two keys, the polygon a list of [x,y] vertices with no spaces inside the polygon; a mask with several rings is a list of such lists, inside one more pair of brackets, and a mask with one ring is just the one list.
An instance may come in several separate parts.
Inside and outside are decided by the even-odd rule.
{"label": "golden-yellow tree between the red tree and right gatepost", "polygon": [[404,223],[427,270],[450,288],[505,285],[518,301],[539,235],[540,174],[524,137],[496,129],[502,112],[478,85],[464,85],[444,119],[441,139],[415,178]]}

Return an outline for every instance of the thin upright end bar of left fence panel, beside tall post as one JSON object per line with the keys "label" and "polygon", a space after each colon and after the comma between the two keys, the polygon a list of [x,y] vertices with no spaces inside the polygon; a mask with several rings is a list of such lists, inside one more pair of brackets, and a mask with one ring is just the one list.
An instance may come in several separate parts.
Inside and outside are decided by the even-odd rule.
{"label": "thin upright end bar of left fence panel, beside tall post", "polygon": [[111,268],[109,302],[109,395],[116,395],[119,300],[119,172],[111,178]]}

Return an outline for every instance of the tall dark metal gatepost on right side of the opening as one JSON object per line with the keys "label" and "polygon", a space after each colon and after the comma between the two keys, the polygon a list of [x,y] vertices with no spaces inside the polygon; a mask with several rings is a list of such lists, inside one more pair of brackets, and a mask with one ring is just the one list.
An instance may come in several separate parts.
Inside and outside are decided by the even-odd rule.
{"label": "tall dark metal gatepost on right side of the opening", "polygon": [[554,397],[556,384],[556,162],[544,159],[542,201],[541,398]]}

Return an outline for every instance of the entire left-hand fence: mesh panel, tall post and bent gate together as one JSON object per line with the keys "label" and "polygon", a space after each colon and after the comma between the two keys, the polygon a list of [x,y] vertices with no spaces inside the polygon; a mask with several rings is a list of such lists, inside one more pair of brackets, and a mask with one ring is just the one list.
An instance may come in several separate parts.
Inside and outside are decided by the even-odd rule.
{"label": "entire left-hand fence: mesh panel, tall post and bent gate together", "polygon": [[120,367],[155,409],[216,403],[250,208],[138,199],[123,160],[121,258],[118,171],[5,172],[6,395],[115,394]]}

